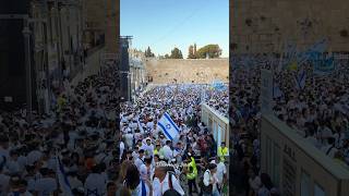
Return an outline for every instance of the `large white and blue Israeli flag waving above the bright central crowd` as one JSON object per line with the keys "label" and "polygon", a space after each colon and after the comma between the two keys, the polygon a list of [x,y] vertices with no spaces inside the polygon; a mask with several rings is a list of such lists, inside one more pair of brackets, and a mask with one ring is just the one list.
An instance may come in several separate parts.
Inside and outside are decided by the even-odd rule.
{"label": "large white and blue Israeli flag waving above the bright central crowd", "polygon": [[161,119],[157,122],[157,125],[168,139],[173,140],[179,136],[179,127],[167,112],[163,114]]}

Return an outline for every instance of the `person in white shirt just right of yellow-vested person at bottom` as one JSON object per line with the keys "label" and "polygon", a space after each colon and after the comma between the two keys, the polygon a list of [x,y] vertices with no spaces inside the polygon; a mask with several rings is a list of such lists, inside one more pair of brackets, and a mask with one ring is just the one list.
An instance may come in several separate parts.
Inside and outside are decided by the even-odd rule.
{"label": "person in white shirt just right of yellow-vested person at bottom", "polygon": [[218,192],[218,179],[216,177],[217,173],[217,164],[209,163],[208,169],[204,173],[204,186],[212,185],[212,192],[210,193],[203,193],[203,196],[219,196]]}

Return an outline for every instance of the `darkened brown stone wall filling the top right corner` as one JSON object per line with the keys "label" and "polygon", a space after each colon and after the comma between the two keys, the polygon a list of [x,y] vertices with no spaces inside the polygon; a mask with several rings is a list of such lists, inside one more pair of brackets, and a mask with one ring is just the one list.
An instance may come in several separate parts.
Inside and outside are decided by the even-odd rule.
{"label": "darkened brown stone wall filling the top right corner", "polygon": [[349,51],[346,0],[230,0],[230,50],[279,53],[285,45],[303,49],[322,39],[327,50]]}

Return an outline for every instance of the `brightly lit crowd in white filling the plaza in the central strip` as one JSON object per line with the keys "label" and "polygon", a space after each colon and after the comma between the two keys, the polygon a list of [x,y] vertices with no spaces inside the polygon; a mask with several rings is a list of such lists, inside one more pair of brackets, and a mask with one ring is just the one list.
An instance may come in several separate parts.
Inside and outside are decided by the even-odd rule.
{"label": "brightly lit crowd in white filling the plaza in the central strip", "polygon": [[[173,188],[181,195],[192,195],[194,192],[220,195],[227,192],[228,149],[225,144],[217,147],[220,144],[216,144],[207,127],[200,122],[200,103],[203,101],[200,93],[206,87],[154,87],[141,95],[137,101],[122,105],[120,126],[123,133],[123,154],[130,156],[127,159],[134,160],[141,179],[148,182],[149,187],[156,188],[157,184],[161,184],[153,176],[157,166],[166,164],[177,166],[172,170],[167,169],[166,175],[172,175],[173,182],[178,184]],[[165,112],[179,127],[180,134],[173,139],[167,138],[157,126]],[[148,164],[143,164],[143,161]],[[185,175],[186,185],[181,181],[182,174]],[[209,193],[204,192],[204,187],[210,184],[212,187],[207,191]],[[186,187],[188,192],[183,191]],[[154,193],[161,195],[165,191],[156,189]]]}

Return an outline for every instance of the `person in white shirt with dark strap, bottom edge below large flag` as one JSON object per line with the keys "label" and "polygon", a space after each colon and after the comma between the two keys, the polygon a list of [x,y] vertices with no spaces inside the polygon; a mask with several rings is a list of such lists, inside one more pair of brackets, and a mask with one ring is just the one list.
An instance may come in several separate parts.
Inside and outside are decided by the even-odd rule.
{"label": "person in white shirt with dark strap, bottom edge below large flag", "polygon": [[168,189],[174,189],[182,196],[185,195],[174,173],[169,172],[167,167],[157,167],[154,173],[153,196],[163,196]]}

